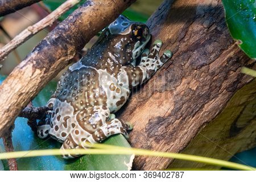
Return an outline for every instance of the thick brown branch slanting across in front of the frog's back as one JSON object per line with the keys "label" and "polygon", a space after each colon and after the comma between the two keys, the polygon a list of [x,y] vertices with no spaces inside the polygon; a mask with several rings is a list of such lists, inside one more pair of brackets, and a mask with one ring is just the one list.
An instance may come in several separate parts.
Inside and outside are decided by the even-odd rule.
{"label": "thick brown branch slanting across in front of the frog's back", "polygon": [[20,110],[68,65],[76,51],[132,2],[86,1],[34,48],[0,86],[0,136],[13,125]]}

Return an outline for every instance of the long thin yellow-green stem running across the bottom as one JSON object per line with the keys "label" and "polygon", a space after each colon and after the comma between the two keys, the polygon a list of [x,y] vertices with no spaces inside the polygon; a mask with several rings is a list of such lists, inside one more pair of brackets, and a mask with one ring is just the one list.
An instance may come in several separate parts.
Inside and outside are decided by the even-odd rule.
{"label": "long thin yellow-green stem running across the bottom", "polygon": [[[92,145],[91,145],[92,146]],[[47,156],[47,155],[62,155],[62,154],[107,154],[107,155],[143,155],[143,156],[159,156],[164,158],[173,158],[181,160],[189,160],[193,162],[200,162],[205,164],[212,164],[215,166],[222,166],[238,170],[256,170],[256,168],[245,166],[242,164],[226,162],[224,160],[206,158],[202,156],[187,155],[187,154],[175,154],[171,152],[157,152],[150,150],[143,150],[138,148],[127,148],[118,146],[109,146],[106,144],[93,144],[94,149],[69,149],[61,151],[59,149],[52,150],[34,150],[34,151],[18,151],[18,152],[7,152],[0,154],[0,159],[10,158],[27,158],[33,156]]]}

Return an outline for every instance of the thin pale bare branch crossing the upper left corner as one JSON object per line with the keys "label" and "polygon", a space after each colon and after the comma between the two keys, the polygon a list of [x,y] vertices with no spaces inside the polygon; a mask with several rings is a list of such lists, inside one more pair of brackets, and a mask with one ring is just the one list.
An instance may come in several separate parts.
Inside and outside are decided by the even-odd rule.
{"label": "thin pale bare branch crossing the upper left corner", "polygon": [[13,38],[9,43],[0,49],[0,62],[3,61],[3,59],[9,55],[11,51],[20,46],[26,40],[30,39],[33,35],[37,34],[40,30],[43,30],[43,28],[50,26],[60,17],[60,15],[71,9],[71,7],[79,2],[80,0],[65,1],[55,11],[52,11],[51,14],[40,20],[38,23],[27,27],[25,30],[16,35],[15,38]]}

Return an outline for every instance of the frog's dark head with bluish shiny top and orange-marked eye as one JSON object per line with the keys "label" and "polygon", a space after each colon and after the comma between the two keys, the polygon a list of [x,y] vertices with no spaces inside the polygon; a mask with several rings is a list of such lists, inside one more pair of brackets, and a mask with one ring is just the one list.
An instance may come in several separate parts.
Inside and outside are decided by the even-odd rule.
{"label": "frog's dark head with bluish shiny top and orange-marked eye", "polygon": [[108,40],[109,52],[114,61],[122,65],[130,64],[139,55],[151,38],[146,24],[133,22],[120,15],[102,33]]}

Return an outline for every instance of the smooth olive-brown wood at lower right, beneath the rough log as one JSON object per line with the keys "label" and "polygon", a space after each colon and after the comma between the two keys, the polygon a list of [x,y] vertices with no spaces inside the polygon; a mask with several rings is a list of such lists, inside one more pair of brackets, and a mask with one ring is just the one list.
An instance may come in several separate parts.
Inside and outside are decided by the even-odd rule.
{"label": "smooth olive-brown wood at lower right, beneath the rough log", "polygon": [[[256,145],[256,80],[243,86],[225,109],[202,129],[182,151],[184,154],[228,160]],[[240,163],[247,165],[241,159]],[[203,163],[174,160],[169,168],[220,168]]]}

